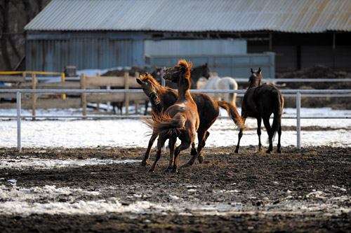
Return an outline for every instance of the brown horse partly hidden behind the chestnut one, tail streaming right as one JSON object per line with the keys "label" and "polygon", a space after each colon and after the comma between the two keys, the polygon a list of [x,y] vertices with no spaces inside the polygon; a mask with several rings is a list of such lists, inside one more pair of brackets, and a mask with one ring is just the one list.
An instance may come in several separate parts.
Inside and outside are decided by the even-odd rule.
{"label": "brown horse partly hidden behind the chestnut one, tail streaming right", "polygon": [[[176,103],[178,99],[178,92],[169,87],[160,85],[157,80],[155,80],[148,73],[145,73],[145,75],[137,78],[137,82],[140,84],[147,97],[149,97],[149,100],[152,104],[152,115],[160,115],[161,112],[165,111],[169,106],[172,106],[174,103]],[[204,161],[204,157],[202,156],[202,149],[204,148],[206,139],[210,134],[208,132],[208,129],[218,118],[218,106],[227,110],[228,115],[230,115],[230,118],[232,118],[238,127],[244,127],[244,122],[239,116],[237,108],[235,108],[231,103],[227,101],[215,101],[207,94],[191,93],[191,95],[192,99],[194,99],[195,103],[197,104],[197,111],[200,118],[200,125],[199,129],[197,130],[197,138],[199,140],[199,143],[197,150],[195,149],[194,144],[192,144],[191,154],[196,156],[192,157],[192,159],[187,162],[187,165],[192,165],[196,158],[200,163]],[[154,132],[149,140],[149,144],[147,146],[147,150],[142,162],[143,166],[145,166],[147,164],[147,160],[149,160],[150,151],[152,145],[154,144],[154,141],[157,139],[157,136],[158,134]]]}

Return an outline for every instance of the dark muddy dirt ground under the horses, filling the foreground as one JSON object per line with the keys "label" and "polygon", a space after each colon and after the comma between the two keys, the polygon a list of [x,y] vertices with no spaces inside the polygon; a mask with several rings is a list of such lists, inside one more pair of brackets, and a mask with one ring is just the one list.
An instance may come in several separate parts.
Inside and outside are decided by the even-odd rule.
{"label": "dark muddy dirt ground under the horses, filling the foreground", "polygon": [[[100,195],[62,195],[56,202],[118,199],[121,206],[158,203],[147,213],[0,215],[1,232],[350,232],[351,149],[283,147],[257,153],[255,147],[205,148],[205,161],[168,171],[164,154],[154,173],[139,162],[54,169],[0,169],[0,185],[16,178],[22,188],[98,190]],[[141,160],[144,148],[0,148],[1,159]],[[189,158],[180,154],[180,164]],[[150,162],[154,160],[154,153]],[[41,203],[51,199],[40,199]],[[0,202],[6,202],[1,197]],[[29,201],[30,202],[30,201]],[[215,208],[213,209],[213,206]],[[159,208],[159,209],[157,209]]]}

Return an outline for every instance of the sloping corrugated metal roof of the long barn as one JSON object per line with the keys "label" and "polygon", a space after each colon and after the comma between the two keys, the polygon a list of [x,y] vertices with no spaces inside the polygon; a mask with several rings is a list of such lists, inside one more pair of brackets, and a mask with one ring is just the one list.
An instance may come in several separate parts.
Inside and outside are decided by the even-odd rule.
{"label": "sloping corrugated metal roof of the long barn", "polygon": [[29,31],[351,31],[350,0],[52,0]]}

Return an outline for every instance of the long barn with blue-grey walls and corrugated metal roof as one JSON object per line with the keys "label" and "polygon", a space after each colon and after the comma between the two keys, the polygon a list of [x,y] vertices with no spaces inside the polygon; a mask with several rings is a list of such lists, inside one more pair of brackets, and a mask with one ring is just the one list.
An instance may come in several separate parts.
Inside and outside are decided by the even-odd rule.
{"label": "long barn with blue-grey walls and corrugated metal roof", "polygon": [[145,66],[145,41],[274,52],[276,71],[351,68],[350,0],[52,0],[25,31],[35,71]]}

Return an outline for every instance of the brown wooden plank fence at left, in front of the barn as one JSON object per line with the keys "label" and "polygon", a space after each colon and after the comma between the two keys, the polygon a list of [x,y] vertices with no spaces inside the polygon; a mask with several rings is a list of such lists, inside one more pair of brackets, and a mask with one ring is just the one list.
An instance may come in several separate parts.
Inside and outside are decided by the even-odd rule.
{"label": "brown wooden plank fence at left, in front of the barn", "polygon": [[[31,81],[26,81],[25,76],[0,76],[0,83],[11,83],[10,86],[0,86],[0,89],[33,89],[33,90],[89,90],[114,87],[116,89],[139,89],[140,85],[136,83],[135,77],[130,77],[125,73],[123,77],[117,76],[85,76],[81,74],[79,80],[65,81],[58,83],[39,83],[35,73],[32,73]],[[15,93],[0,93],[0,98],[16,99]],[[32,115],[35,115],[37,108],[83,108],[83,115],[86,115],[87,103],[107,103],[107,102],[124,102],[126,106],[126,115],[128,115],[128,106],[130,104],[144,103],[147,97],[144,93],[110,93],[110,94],[65,94],[54,96],[52,94],[23,94],[21,97],[22,108],[31,109]],[[2,101],[0,108],[16,108],[14,102]],[[138,109],[138,108],[136,108]]]}

